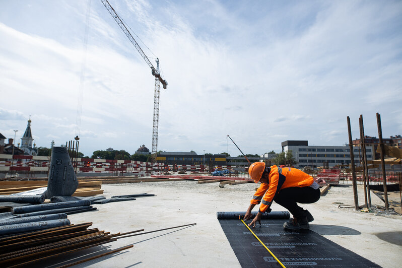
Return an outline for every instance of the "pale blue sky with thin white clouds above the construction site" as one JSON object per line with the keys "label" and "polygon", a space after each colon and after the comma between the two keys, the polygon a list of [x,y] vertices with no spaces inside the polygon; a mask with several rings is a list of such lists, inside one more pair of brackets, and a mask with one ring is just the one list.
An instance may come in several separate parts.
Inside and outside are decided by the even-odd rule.
{"label": "pale blue sky with thin white clouds above the construction site", "polygon": [[[378,137],[377,112],[402,134],[401,1],[109,3],[168,82],[158,151],[342,146],[347,116]],[[37,147],[152,149],[155,78],[101,1],[0,4],[0,133],[21,142],[31,118]]]}

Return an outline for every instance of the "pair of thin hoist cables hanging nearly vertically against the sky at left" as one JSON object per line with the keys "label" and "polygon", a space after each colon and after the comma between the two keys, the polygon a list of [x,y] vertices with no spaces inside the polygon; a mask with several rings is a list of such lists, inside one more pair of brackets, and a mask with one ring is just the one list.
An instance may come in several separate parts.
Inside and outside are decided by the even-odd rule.
{"label": "pair of thin hoist cables hanging nearly vertically against the sky at left", "polygon": [[85,69],[87,61],[87,47],[88,47],[88,32],[89,32],[89,18],[91,14],[91,0],[87,3],[87,17],[85,25],[85,34],[83,41],[83,60],[81,63],[81,75],[80,75],[80,85],[78,89],[78,104],[77,104],[77,117],[76,117],[76,137],[80,135],[81,127],[81,115],[82,115],[82,103],[84,98],[84,81],[85,81]]}

